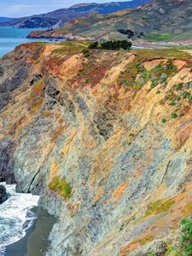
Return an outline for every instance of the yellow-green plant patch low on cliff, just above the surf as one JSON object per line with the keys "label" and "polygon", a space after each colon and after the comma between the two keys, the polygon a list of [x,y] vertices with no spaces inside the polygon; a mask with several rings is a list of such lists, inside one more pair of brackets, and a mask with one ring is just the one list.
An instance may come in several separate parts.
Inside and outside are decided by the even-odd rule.
{"label": "yellow-green plant patch low on cliff, just above the surf", "polygon": [[72,188],[67,183],[65,177],[54,177],[51,183],[49,183],[49,189],[58,192],[65,200],[68,200],[72,195]]}

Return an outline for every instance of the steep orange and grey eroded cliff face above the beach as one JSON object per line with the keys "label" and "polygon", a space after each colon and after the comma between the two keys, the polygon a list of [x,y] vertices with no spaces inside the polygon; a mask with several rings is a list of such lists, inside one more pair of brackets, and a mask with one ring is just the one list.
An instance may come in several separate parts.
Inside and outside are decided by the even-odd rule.
{"label": "steep orange and grey eroded cliff face above the beach", "polygon": [[164,255],[192,212],[191,56],[86,45],[1,60],[0,174],[59,216],[47,255]]}

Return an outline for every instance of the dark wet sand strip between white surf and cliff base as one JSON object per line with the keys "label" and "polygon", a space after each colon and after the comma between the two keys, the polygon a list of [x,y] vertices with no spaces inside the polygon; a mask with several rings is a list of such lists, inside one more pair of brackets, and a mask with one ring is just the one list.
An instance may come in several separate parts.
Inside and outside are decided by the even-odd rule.
{"label": "dark wet sand strip between white surf and cliff base", "polygon": [[49,247],[49,233],[56,219],[44,209],[34,207],[38,218],[33,226],[26,230],[26,236],[6,247],[5,256],[43,256]]}

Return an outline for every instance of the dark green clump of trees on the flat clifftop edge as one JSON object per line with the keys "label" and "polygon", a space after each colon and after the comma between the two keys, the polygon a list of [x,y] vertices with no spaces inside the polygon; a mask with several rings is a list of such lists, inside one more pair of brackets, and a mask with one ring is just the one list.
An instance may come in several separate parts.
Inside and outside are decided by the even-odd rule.
{"label": "dark green clump of trees on the flat clifftop edge", "polygon": [[108,49],[108,50],[119,50],[119,49],[125,49],[129,50],[131,49],[131,42],[127,40],[115,40],[115,41],[105,41],[102,43],[94,42],[89,45],[89,49]]}

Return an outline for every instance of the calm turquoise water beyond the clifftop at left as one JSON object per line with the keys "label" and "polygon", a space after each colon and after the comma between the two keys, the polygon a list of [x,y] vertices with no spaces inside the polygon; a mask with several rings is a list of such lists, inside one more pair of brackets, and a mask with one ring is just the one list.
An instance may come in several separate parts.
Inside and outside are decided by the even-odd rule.
{"label": "calm turquoise water beyond the clifftop at left", "polygon": [[0,57],[15,49],[19,44],[46,41],[45,39],[27,39],[29,32],[37,29],[20,29],[10,26],[0,27]]}

